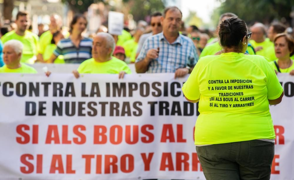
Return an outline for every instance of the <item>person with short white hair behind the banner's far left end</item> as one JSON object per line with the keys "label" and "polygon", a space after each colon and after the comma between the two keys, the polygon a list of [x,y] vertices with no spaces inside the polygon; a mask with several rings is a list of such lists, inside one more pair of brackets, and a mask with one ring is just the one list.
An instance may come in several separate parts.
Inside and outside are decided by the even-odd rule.
{"label": "person with short white hair behind the banner's far left end", "polygon": [[3,60],[5,65],[0,73],[37,73],[36,69],[20,62],[24,45],[15,39],[9,40],[3,46]]}

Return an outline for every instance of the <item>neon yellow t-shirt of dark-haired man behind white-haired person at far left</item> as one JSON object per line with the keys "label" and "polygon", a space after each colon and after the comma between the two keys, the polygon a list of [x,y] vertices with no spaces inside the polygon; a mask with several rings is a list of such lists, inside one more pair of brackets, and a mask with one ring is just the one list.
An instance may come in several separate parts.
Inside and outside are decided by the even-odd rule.
{"label": "neon yellow t-shirt of dark-haired man behind white-haired person at far left", "polygon": [[24,45],[21,62],[34,64],[39,49],[39,37],[30,31],[26,31],[24,36],[19,36],[14,30],[1,37],[3,44],[11,39],[19,40]]}

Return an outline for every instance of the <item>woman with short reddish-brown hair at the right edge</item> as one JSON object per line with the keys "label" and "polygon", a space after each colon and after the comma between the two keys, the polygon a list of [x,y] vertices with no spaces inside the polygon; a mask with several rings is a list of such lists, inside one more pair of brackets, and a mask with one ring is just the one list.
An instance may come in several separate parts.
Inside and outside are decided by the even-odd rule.
{"label": "woman with short reddish-brown hair at the right edge", "polygon": [[294,55],[294,39],[287,33],[277,34],[274,39],[275,56],[278,58],[270,64],[278,73],[289,73],[294,76],[294,64],[290,56]]}

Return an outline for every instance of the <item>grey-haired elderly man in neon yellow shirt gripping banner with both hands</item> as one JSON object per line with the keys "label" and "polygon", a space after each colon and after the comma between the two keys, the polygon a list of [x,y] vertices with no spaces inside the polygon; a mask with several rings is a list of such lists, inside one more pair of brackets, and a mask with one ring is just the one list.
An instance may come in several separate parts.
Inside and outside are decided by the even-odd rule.
{"label": "grey-haired elderly man in neon yellow shirt gripping banner with both hands", "polygon": [[79,74],[119,74],[118,78],[123,78],[124,74],[131,74],[128,65],[112,56],[115,48],[115,41],[109,33],[99,32],[93,39],[92,58],[83,61],[77,70],[73,71],[76,78]]}

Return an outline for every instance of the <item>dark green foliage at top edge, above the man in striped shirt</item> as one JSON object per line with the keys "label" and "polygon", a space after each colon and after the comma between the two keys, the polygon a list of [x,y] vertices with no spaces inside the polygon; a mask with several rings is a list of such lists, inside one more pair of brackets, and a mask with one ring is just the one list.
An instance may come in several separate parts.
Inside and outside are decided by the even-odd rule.
{"label": "dark green foliage at top edge, above the man in striped shirt", "polygon": [[67,4],[71,10],[75,13],[84,13],[88,11],[88,7],[101,0],[61,0],[63,3]]}

